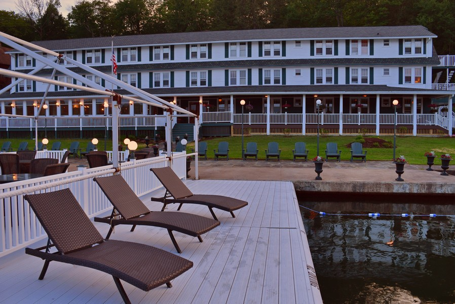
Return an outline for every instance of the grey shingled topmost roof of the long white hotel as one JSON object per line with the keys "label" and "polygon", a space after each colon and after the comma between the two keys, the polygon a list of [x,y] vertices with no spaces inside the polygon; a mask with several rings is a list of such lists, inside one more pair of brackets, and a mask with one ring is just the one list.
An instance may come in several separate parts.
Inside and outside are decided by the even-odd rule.
{"label": "grey shingled topmost roof of the long white hotel", "polygon": [[311,40],[311,39],[374,39],[374,38],[436,38],[422,25],[362,26],[362,27],[309,27],[220,30],[119,37],[83,38],[53,41],[35,41],[33,44],[50,50],[110,48],[141,45],[176,45],[229,41]]}

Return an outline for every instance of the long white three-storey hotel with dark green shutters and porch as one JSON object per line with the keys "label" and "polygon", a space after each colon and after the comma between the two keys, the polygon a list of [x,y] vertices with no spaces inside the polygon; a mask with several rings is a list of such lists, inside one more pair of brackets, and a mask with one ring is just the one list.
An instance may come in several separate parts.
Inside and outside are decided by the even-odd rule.
{"label": "long white three-storey hotel with dark green shutters and porch", "polygon": [[[434,39],[437,36],[423,26],[380,26],[166,33],[34,44],[111,75],[113,42],[117,78],[198,114],[203,136],[240,134],[242,121],[249,134],[313,134],[318,120],[332,134],[391,134],[395,99],[397,125],[417,136],[452,134],[454,127],[448,100],[455,93],[455,56],[438,56]],[[29,73],[42,65],[16,50],[9,54],[13,71]],[[99,76],[63,60],[60,64],[117,90]],[[52,73],[45,67],[36,75]],[[81,84],[58,72],[52,77]],[[0,95],[1,112],[36,115],[47,86],[20,82]],[[322,102],[319,116],[317,99]],[[105,128],[105,100],[51,85],[48,109],[40,117],[47,117],[43,120],[51,137],[90,137]],[[120,111],[122,133],[153,136],[165,124],[162,110],[153,106],[125,101]],[[33,123],[30,118],[1,117],[0,132],[27,137]],[[177,134],[194,118],[177,117],[172,123]],[[44,123],[39,127],[42,132]]]}

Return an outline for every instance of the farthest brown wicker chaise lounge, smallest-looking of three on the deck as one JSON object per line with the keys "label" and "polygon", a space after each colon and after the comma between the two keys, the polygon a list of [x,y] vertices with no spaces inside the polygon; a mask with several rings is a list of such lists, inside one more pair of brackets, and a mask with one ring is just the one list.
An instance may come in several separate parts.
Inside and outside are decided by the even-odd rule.
{"label": "farthest brown wicker chaise lounge, smallest-looking of three on the deck", "polygon": [[[232,217],[236,217],[233,211],[248,205],[248,202],[245,200],[229,196],[193,194],[193,192],[191,192],[191,190],[189,190],[188,187],[186,187],[186,185],[178,178],[175,172],[172,171],[171,167],[151,168],[150,171],[157,176],[157,178],[166,188],[164,197],[151,198],[153,201],[163,202],[164,206],[162,210],[166,208],[167,204],[175,203],[180,204],[177,210],[180,210],[183,204],[206,205],[209,208],[213,218],[215,220],[218,220],[215,213],[213,212],[213,208],[228,211],[231,213]],[[173,198],[169,198],[171,196]]]}

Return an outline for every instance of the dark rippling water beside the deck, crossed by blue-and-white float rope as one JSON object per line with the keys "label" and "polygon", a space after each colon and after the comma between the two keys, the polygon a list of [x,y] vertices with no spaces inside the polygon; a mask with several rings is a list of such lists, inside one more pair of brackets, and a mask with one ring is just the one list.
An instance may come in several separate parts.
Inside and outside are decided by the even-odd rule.
{"label": "dark rippling water beside the deck, crossed by blue-and-white float rope", "polygon": [[[455,206],[300,202],[326,213],[455,215]],[[455,217],[301,208],[324,303],[455,303]]]}

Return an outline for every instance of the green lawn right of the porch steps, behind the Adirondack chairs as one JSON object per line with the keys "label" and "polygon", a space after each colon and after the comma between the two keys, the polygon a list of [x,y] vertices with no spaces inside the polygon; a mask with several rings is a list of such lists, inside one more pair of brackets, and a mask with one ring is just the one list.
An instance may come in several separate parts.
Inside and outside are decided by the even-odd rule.
{"label": "green lawn right of the porch steps, behind the Adirondack chairs", "polygon": [[[378,137],[393,143],[393,136]],[[328,142],[335,142],[338,144],[338,149],[342,150],[341,159],[350,160],[350,148],[346,145],[354,142],[355,136],[325,136],[319,138],[319,154],[325,157],[325,145]],[[207,157],[213,159],[213,149],[218,148],[218,143],[226,141],[229,142],[229,158],[241,158],[242,138],[236,137],[222,137],[207,140]],[[257,149],[259,150],[258,158],[265,159],[267,144],[269,142],[278,142],[281,149],[281,159],[292,159],[292,149],[294,149],[295,142],[305,142],[309,151],[309,158],[316,156],[317,150],[317,137],[316,136],[245,136],[244,146],[246,143],[256,142]],[[455,138],[448,137],[405,137],[397,136],[396,155],[404,155],[406,160],[412,164],[426,164],[427,158],[424,156],[426,151],[435,151],[436,155],[450,153],[455,156]],[[188,144],[188,153],[194,143]],[[365,148],[368,151],[367,160],[392,160],[393,148]],[[437,162],[437,160],[436,160]]]}

